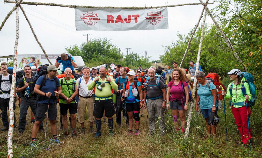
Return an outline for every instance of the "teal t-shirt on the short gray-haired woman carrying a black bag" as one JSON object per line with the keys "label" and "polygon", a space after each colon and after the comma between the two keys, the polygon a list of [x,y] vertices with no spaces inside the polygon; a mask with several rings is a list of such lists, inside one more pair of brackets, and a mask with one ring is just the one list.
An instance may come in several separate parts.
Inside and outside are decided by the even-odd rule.
{"label": "teal t-shirt on the short gray-haired woman carrying a black bag", "polygon": [[[210,90],[216,89],[216,86],[214,85],[214,83],[210,82],[209,83],[210,90],[209,90],[207,83],[203,86],[201,84],[199,85],[200,85],[199,89],[198,89],[198,86],[196,87],[196,89],[198,89],[197,95],[200,98],[200,108],[201,109],[212,108],[213,107],[213,95]],[[216,107],[218,107],[217,101],[216,101]]]}

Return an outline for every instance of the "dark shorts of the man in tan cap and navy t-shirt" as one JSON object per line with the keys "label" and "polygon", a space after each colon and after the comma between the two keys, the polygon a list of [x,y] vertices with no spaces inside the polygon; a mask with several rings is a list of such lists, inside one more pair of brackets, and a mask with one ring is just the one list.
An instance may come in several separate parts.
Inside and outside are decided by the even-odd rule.
{"label": "dark shorts of the man in tan cap and navy t-shirt", "polygon": [[[47,103],[38,103],[37,109],[35,113],[36,121],[43,121],[45,118],[45,114],[47,111]],[[56,104],[49,104],[48,108],[48,119],[55,120],[56,119]]]}

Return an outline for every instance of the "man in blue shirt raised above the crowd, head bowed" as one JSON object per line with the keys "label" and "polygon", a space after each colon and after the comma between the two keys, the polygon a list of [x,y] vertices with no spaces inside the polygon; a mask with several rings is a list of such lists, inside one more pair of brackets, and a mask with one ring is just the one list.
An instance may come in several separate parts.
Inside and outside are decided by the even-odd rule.
{"label": "man in blue shirt raised above the crowd, head bowed", "polygon": [[58,66],[62,63],[63,65],[63,70],[65,70],[65,68],[70,67],[72,72],[75,71],[75,68],[77,67],[77,64],[75,63],[75,59],[73,56],[68,55],[68,54],[61,54],[61,57],[58,56],[56,59],[56,63],[54,64],[57,68]]}

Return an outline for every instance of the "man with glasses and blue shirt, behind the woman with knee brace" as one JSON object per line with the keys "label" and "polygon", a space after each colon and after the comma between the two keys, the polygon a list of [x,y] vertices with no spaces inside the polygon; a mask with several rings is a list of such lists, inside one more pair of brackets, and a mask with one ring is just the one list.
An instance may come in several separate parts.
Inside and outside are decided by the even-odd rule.
{"label": "man with glasses and blue shirt, behind the woman with knee brace", "polygon": [[[122,92],[123,92],[123,85],[124,82],[127,80],[127,76],[125,75],[125,73],[127,72],[127,69],[125,67],[121,67],[119,70],[119,77],[117,77],[115,79],[116,84],[118,85],[118,90],[115,91],[116,96],[116,122],[117,122],[117,127],[121,127],[121,110],[122,110],[122,104],[123,102],[120,101],[121,96],[122,96]],[[123,111],[123,116],[126,117],[127,116],[127,112]],[[125,123],[128,124],[127,120],[125,119]]]}

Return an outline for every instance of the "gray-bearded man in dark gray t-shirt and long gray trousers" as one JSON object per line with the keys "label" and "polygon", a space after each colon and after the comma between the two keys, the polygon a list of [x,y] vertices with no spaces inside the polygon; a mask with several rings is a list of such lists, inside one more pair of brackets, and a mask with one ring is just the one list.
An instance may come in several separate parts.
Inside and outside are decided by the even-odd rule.
{"label": "gray-bearded man in dark gray t-shirt and long gray trousers", "polygon": [[[154,134],[155,131],[155,113],[159,116],[160,135],[165,133],[164,126],[164,109],[166,107],[166,89],[165,85],[160,79],[155,78],[156,72],[153,68],[148,69],[149,80],[145,81],[144,91],[144,104],[143,107],[147,108],[149,115],[149,133]],[[148,104],[146,106],[146,99]]]}

